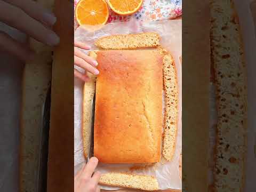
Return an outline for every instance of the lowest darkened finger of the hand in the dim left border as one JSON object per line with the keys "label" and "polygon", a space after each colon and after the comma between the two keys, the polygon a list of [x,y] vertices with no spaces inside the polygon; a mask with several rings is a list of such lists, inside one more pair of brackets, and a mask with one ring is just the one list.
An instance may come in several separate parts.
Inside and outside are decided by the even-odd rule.
{"label": "lowest darkened finger of the hand in the dim left border", "polygon": [[35,53],[26,45],[15,41],[12,37],[0,31],[0,48],[15,55],[23,61],[31,60]]}

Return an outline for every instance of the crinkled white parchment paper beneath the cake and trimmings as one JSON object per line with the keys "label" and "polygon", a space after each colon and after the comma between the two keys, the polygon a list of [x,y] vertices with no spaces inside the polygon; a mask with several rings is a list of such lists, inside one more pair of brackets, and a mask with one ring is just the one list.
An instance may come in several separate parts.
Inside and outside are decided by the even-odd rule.
{"label": "crinkled white parchment paper beneath the cake and trimmings", "polygon": [[[154,175],[159,183],[159,189],[181,189],[181,179],[179,177],[179,156],[181,153],[181,65],[179,57],[181,56],[181,20],[167,20],[167,21],[155,21],[155,22],[120,22],[109,23],[103,28],[89,32],[83,27],[77,28],[75,31],[75,40],[86,42],[91,46],[91,50],[97,49],[94,46],[95,39],[114,34],[134,34],[147,31],[154,31],[161,36],[161,44],[163,47],[170,51],[173,55],[175,66],[178,71],[178,84],[179,84],[179,122],[178,122],[178,136],[177,145],[175,148],[175,154],[171,162],[165,162],[162,158],[160,163],[157,163],[153,167],[149,167],[143,170],[136,170],[133,173]],[[80,70],[80,69],[79,69]],[[83,99],[83,83],[79,79],[75,79],[74,90],[74,166],[75,173],[81,169],[85,158],[83,155],[83,143],[82,143],[82,99]],[[133,164],[102,164],[99,163],[97,170],[102,173],[106,172],[132,172],[129,168]],[[106,187],[101,186],[103,189],[120,189],[119,187]]]}

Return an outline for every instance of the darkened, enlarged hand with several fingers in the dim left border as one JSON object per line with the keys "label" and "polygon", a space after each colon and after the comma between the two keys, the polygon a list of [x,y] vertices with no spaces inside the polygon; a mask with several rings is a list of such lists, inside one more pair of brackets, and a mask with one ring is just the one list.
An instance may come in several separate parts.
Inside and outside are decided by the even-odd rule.
{"label": "darkened, enlarged hand with several fingers in the dim left border", "polygon": [[[32,0],[0,0],[0,21],[46,45],[59,44],[59,37],[50,29],[56,22],[55,16]],[[27,45],[15,41],[1,30],[0,49],[21,60],[34,56]]]}

